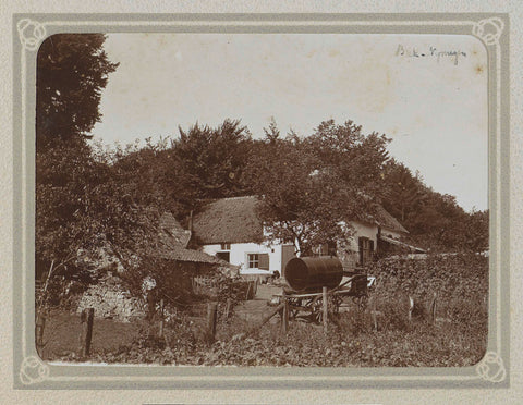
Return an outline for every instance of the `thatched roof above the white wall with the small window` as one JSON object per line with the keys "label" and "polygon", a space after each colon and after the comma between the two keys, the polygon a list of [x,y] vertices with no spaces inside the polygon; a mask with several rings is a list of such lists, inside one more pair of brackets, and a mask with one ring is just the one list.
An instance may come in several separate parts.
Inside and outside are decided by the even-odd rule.
{"label": "thatched roof above the white wall with the small window", "polygon": [[221,198],[204,207],[193,221],[193,234],[200,244],[248,243],[263,240],[255,196]]}

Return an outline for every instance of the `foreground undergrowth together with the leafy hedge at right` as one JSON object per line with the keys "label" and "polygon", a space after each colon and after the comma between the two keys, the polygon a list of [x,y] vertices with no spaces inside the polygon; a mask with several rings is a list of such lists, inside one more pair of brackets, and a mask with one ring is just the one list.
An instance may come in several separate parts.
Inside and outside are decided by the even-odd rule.
{"label": "foreground undergrowth together with the leafy hedge at right", "polygon": [[[378,284],[366,309],[348,310],[321,326],[291,321],[287,335],[276,316],[263,328],[219,309],[216,339],[207,334],[205,305],[170,318],[165,336],[158,323],[142,322],[119,347],[99,347],[95,361],[159,365],[463,367],[481,360],[487,344],[487,259],[477,255],[389,259],[369,271]],[[417,274],[417,277],[414,277]],[[436,319],[430,317],[437,292]],[[412,320],[409,300],[414,298]],[[266,311],[269,309],[266,308]],[[373,314],[377,310],[376,314]],[[54,352],[50,358],[75,360]]]}

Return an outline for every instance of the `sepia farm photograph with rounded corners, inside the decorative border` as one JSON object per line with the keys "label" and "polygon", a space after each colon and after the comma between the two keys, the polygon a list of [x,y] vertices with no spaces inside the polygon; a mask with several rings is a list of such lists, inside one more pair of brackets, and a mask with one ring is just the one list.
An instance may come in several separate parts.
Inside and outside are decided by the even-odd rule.
{"label": "sepia farm photograph with rounded corners, inside the decorative border", "polygon": [[487,64],[472,35],[47,37],[38,356],[476,365],[488,336]]}

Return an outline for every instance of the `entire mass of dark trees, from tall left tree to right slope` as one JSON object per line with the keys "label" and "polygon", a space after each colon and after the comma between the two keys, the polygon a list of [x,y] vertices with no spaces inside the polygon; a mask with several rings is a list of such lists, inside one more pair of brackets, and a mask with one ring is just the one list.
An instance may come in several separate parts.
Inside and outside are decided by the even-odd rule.
{"label": "entire mass of dark trees, from tall left tree to right slope", "polygon": [[[98,102],[118,63],[102,35],[56,35],[38,53],[36,262],[70,280],[77,251],[110,248],[129,269],[150,260],[158,218],[186,221],[209,198],[258,195],[271,238],[313,246],[346,241],[343,223],[372,217],[384,204],[433,250],[487,247],[488,213],[464,212],[451,196],[389,158],[385,135],[352,121],[319,123],[312,134],[282,136],[275,121],[254,138],[239,120],[195,124],[180,136],[143,147],[104,150],[88,144]],[[80,57],[81,56],[81,57]],[[80,62],[75,63],[78,59]],[[85,83],[84,83],[85,82]],[[259,134],[262,135],[262,134]],[[154,269],[151,269],[154,271]]]}

